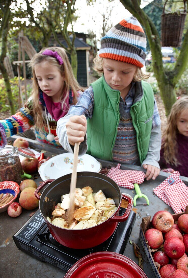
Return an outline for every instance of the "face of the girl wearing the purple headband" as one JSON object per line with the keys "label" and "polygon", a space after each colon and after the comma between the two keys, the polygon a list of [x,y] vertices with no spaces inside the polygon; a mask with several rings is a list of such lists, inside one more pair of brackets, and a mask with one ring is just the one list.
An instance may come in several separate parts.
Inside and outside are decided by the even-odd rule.
{"label": "face of the girl wearing the purple headband", "polygon": [[61,75],[57,66],[53,66],[47,61],[43,61],[34,67],[34,71],[42,92],[47,96],[51,96],[53,102],[59,102],[65,78]]}

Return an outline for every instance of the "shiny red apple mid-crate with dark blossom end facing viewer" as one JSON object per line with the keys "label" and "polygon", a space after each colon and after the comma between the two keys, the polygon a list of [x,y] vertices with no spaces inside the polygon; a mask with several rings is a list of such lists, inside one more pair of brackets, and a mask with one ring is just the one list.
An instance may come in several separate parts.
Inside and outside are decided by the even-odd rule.
{"label": "shiny red apple mid-crate with dark blossom end facing viewer", "polygon": [[172,259],[179,259],[185,253],[185,245],[178,237],[170,237],[164,242],[164,252]]}

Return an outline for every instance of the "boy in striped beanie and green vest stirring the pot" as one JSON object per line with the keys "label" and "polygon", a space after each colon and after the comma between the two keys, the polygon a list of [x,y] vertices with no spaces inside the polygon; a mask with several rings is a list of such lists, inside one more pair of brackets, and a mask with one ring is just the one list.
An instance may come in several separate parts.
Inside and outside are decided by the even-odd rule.
{"label": "boy in striped beanie and green vest stirring the pot", "polygon": [[[57,122],[61,145],[79,155],[141,165],[146,179],[160,172],[161,120],[151,85],[141,71],[146,59],[146,36],[136,18],[123,19],[101,39],[94,59],[102,76]],[[87,131],[87,135],[86,135]]]}

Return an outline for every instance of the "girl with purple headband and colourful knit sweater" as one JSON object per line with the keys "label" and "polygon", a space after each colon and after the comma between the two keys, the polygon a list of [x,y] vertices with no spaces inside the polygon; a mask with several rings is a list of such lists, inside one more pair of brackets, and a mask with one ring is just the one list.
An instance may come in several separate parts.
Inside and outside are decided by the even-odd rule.
{"label": "girl with purple headband and colourful knit sweater", "polygon": [[15,115],[0,121],[0,147],[6,138],[35,125],[36,139],[61,146],[56,134],[57,120],[77,103],[79,87],[65,49],[43,48],[29,63],[33,85],[31,97]]}

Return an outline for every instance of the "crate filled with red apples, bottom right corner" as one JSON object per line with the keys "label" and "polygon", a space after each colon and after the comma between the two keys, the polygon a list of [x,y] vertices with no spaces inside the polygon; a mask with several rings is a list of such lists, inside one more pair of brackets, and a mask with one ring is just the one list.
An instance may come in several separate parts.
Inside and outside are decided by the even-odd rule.
{"label": "crate filled with red apples, bottom right corner", "polygon": [[188,278],[188,206],[185,213],[144,217],[139,239],[157,278]]}

